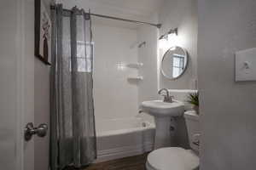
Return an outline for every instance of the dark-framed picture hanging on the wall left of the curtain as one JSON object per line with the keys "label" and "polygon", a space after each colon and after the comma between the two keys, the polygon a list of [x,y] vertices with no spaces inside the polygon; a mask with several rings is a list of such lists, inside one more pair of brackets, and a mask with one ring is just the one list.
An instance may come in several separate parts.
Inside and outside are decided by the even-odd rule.
{"label": "dark-framed picture hanging on the wall left of the curtain", "polygon": [[35,56],[50,65],[51,20],[42,0],[35,0]]}

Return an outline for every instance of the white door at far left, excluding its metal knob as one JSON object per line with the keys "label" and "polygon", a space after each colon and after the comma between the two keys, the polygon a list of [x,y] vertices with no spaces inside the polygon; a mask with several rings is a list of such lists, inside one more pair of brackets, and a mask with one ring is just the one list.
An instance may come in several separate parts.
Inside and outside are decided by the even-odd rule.
{"label": "white door at far left, excluding its metal knob", "polygon": [[33,92],[27,93],[33,89],[33,80],[28,79],[33,71],[26,75],[23,43],[24,4],[23,0],[3,0],[0,6],[0,165],[6,170],[32,170],[34,166],[33,141],[23,140],[25,122],[33,121]]}

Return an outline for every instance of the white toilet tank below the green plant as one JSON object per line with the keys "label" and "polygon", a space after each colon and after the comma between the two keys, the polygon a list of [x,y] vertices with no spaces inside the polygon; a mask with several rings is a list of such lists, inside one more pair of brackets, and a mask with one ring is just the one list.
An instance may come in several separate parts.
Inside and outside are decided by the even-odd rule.
{"label": "white toilet tank below the green plant", "polygon": [[184,117],[189,135],[189,145],[192,150],[195,150],[198,153],[199,146],[194,143],[199,141],[201,132],[199,116],[196,114],[195,111],[185,111]]}

